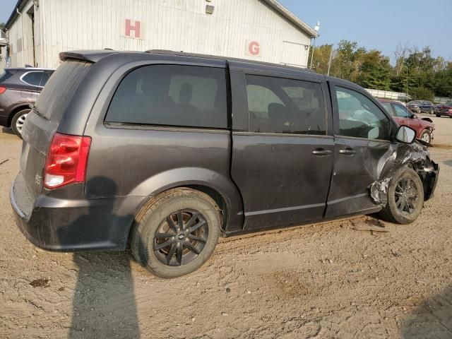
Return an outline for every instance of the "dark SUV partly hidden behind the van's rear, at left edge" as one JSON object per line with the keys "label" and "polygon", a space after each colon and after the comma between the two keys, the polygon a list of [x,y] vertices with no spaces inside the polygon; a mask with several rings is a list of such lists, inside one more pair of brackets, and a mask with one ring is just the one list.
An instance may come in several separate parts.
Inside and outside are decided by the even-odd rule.
{"label": "dark SUV partly hidden behind the van's rear, at left edge", "polygon": [[24,67],[5,69],[0,74],[0,125],[9,127],[20,138],[23,123],[37,95],[54,69]]}

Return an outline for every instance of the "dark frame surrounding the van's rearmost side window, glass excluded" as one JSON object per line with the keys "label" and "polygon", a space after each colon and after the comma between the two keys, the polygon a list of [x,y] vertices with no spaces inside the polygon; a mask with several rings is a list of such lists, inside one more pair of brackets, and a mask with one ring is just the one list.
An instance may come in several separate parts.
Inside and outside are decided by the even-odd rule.
{"label": "dark frame surrounding the van's rearmost side window, glass excluded", "polygon": [[[216,61],[216,60],[215,60]],[[138,123],[132,123],[132,122],[115,122],[115,121],[107,121],[107,114],[110,105],[112,105],[112,101],[114,98],[114,95],[117,93],[117,90],[119,89],[119,85],[121,85],[121,82],[126,78],[126,76],[129,76],[130,73],[133,71],[136,71],[137,69],[141,69],[143,67],[148,66],[189,66],[189,67],[203,67],[203,68],[209,68],[209,69],[222,69],[222,71],[225,72],[225,90],[226,90],[226,127],[202,127],[202,126],[184,126],[184,125],[163,125],[163,124],[138,124]],[[114,75],[117,75],[117,78],[114,78]],[[106,100],[102,105],[102,113],[100,114],[100,122],[105,128],[109,129],[121,129],[119,126],[112,127],[112,124],[122,124],[124,127],[129,126],[129,129],[147,129],[143,128],[149,127],[149,129],[158,129],[160,131],[165,130],[196,130],[196,131],[227,131],[227,133],[230,132],[231,126],[232,126],[232,117],[231,117],[231,100],[232,100],[232,93],[230,93],[230,74],[228,72],[227,64],[225,62],[224,65],[218,65],[218,64],[209,64],[206,61],[203,62],[190,62],[190,61],[160,61],[156,60],[155,62],[146,60],[146,61],[137,61],[134,63],[126,64],[123,67],[120,67],[117,69],[109,81],[113,81],[112,87],[108,88]],[[105,88],[103,89],[105,90]],[[102,92],[103,92],[102,90]],[[133,126],[133,128],[130,128]]]}

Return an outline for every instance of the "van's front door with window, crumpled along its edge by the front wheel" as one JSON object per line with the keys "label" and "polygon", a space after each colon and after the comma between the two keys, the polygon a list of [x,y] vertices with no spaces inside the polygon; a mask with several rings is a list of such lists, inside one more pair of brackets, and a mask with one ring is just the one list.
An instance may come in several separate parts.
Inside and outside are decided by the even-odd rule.
{"label": "van's front door with window, crumpled along its edge by the front wheel", "polygon": [[357,88],[333,85],[335,155],[326,218],[378,210],[369,186],[379,180],[393,154],[391,120],[374,100]]}

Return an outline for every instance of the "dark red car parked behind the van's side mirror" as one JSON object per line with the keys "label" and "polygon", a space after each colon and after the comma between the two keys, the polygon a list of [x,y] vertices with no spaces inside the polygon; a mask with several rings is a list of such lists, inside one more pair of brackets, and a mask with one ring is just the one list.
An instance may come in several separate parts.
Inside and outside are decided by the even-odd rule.
{"label": "dark red car parked behind the van's side mirror", "polygon": [[379,99],[379,102],[400,126],[408,126],[415,129],[417,133],[416,138],[426,143],[432,143],[435,130],[435,124],[432,119],[417,117],[400,101]]}

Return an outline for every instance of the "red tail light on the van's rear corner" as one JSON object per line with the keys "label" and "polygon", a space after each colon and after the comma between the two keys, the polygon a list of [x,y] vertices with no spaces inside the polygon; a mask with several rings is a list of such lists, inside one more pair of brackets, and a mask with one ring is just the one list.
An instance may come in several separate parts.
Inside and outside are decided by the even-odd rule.
{"label": "red tail light on the van's rear corner", "polygon": [[75,182],[85,182],[90,153],[89,136],[55,133],[44,167],[44,187],[57,189]]}

